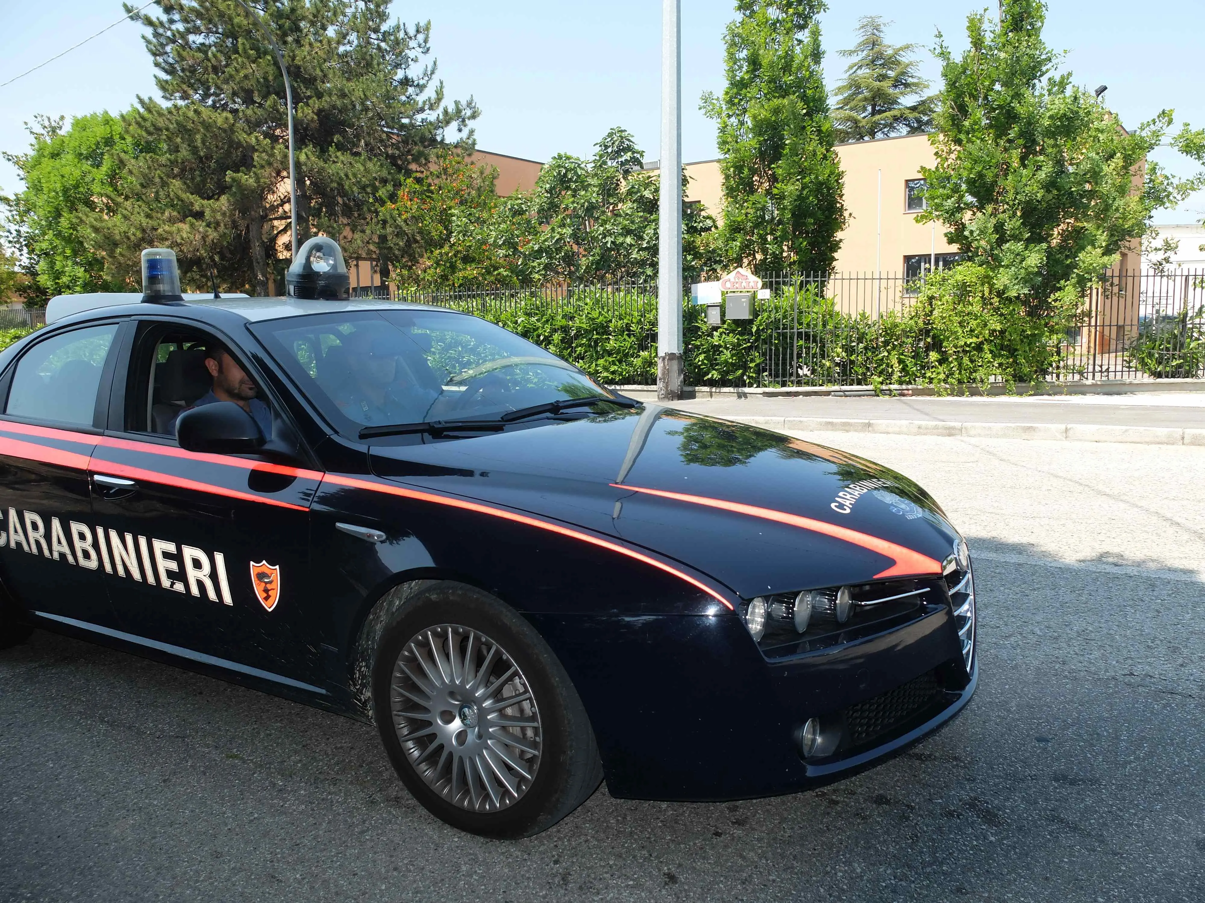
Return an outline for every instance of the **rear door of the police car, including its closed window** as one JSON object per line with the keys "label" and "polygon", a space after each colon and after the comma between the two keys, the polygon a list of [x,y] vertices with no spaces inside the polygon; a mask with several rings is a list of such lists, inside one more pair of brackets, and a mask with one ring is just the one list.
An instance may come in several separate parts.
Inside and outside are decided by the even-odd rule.
{"label": "rear door of the police car, including its closed window", "polygon": [[88,462],[107,413],[119,323],[48,334],[0,382],[0,572],[29,610],[114,627]]}

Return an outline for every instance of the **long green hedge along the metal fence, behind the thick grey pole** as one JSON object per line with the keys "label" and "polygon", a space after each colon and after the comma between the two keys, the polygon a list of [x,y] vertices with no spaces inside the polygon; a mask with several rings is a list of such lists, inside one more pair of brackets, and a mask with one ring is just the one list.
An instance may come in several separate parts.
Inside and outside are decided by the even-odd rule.
{"label": "long green hedge along the metal fence, behind the thick grey pole", "polygon": [[[416,297],[475,313],[572,361],[600,382],[657,380],[657,299],[649,291],[515,290]],[[683,303],[689,385],[915,385],[1030,382],[1057,360],[1059,330],[998,297],[963,265],[917,287],[904,311],[846,314],[815,284],[758,301],[750,320],[706,324]]]}

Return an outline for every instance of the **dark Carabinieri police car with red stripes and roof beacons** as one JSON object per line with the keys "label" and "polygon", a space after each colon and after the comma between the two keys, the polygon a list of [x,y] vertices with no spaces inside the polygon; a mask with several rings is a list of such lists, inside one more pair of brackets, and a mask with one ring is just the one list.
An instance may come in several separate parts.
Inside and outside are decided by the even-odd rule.
{"label": "dark Carabinieri police car with red stripes and roof beacons", "polygon": [[900,474],[352,300],[327,238],[286,299],[184,300],[145,258],[145,296],[55,299],[0,355],[4,642],[375,722],[430,811],[498,837],[604,778],[806,789],[970,698],[966,545]]}

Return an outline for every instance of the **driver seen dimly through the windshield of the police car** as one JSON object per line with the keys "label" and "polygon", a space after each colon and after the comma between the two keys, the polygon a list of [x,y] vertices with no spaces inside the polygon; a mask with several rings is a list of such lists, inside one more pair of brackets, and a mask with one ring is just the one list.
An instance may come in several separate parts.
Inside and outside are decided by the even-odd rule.
{"label": "driver seen dimly through the windshield of the police car", "polygon": [[390,332],[360,329],[343,342],[349,372],[334,402],[368,426],[422,421],[439,395],[413,378],[400,337]]}

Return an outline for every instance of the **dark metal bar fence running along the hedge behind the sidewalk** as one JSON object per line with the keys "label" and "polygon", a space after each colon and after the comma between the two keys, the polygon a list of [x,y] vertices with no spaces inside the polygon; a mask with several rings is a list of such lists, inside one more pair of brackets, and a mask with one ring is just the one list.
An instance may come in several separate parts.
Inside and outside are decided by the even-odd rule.
{"label": "dark metal bar fence running along the hedge behind the sidewalk", "polygon": [[[924,277],[899,273],[762,276],[769,297],[750,319],[707,321],[683,308],[690,385],[772,388],[931,383],[948,350],[917,299]],[[377,294],[377,293],[374,293]],[[472,313],[615,384],[657,372],[657,287],[642,283],[527,289],[394,291],[404,301]],[[1112,272],[1052,340],[1054,382],[1205,377],[1205,272]],[[1003,379],[984,374],[988,382]]]}

